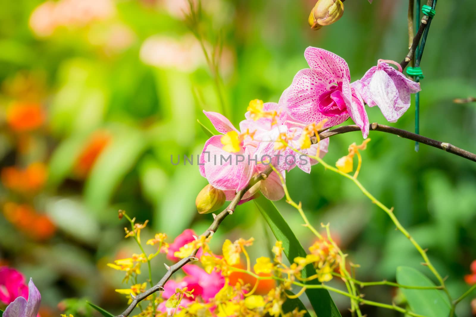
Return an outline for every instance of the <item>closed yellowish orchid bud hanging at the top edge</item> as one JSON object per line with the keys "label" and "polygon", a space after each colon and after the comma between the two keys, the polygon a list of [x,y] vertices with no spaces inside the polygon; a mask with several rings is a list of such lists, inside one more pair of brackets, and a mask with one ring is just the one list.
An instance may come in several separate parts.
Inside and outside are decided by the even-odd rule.
{"label": "closed yellowish orchid bud hanging at the top edge", "polygon": [[309,26],[313,30],[336,22],[344,14],[341,0],[318,0],[309,15]]}

